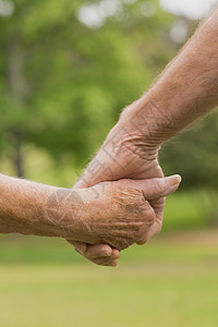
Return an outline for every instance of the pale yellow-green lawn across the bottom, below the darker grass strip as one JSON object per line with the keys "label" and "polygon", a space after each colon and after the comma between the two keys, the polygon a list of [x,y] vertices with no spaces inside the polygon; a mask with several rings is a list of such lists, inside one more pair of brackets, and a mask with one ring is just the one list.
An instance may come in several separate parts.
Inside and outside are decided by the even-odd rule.
{"label": "pale yellow-green lawn across the bottom, below the darker grass strip", "polygon": [[213,327],[217,272],[217,249],[165,244],[133,247],[117,269],[3,265],[0,326]]}

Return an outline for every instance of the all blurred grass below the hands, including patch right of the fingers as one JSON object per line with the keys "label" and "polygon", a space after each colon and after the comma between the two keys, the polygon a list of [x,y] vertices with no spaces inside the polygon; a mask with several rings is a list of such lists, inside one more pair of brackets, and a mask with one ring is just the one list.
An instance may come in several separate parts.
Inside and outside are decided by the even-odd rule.
{"label": "all blurred grass below the hands, including patch right of the fingers", "polygon": [[217,326],[218,246],[183,232],[175,242],[175,230],[206,226],[193,198],[169,197],[161,237],[123,252],[116,269],[63,240],[2,235],[0,327]]}

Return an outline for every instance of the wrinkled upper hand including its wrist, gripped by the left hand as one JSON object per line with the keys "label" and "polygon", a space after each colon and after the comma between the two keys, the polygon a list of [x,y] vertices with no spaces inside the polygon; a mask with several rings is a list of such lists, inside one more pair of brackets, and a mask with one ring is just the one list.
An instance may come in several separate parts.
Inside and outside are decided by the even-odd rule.
{"label": "wrinkled upper hand including its wrist, gripped by the left hand", "polygon": [[[121,119],[110,131],[75,187],[88,187],[102,181],[123,178],[138,180],[164,177],[157,159],[160,145],[156,144],[152,132],[147,131],[148,117],[146,117],[146,124],[143,112],[135,114],[140,105],[140,101],[136,101],[123,111]],[[150,117],[153,118],[152,113]],[[159,217],[162,219],[165,197],[160,197],[152,205],[159,211]],[[149,238],[159,231],[159,225],[154,226]],[[88,245],[81,242],[72,242],[72,244],[78,253],[92,262],[95,262],[94,258],[97,257],[105,257],[108,262],[120,257],[120,253],[107,244]]]}

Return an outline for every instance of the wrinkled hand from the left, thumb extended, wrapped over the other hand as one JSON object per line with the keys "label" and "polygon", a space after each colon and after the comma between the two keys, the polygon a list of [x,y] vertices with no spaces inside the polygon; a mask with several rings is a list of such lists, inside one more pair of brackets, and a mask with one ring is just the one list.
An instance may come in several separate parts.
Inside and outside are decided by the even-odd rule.
{"label": "wrinkled hand from the left, thumb extended, wrapped over the other hand", "polygon": [[106,243],[119,251],[134,243],[144,244],[154,226],[161,228],[160,213],[148,201],[156,203],[159,196],[174,192],[179,183],[171,185],[171,180],[124,179],[78,190],[85,209],[82,209],[80,232],[71,235],[68,228],[69,235],[89,244]]}

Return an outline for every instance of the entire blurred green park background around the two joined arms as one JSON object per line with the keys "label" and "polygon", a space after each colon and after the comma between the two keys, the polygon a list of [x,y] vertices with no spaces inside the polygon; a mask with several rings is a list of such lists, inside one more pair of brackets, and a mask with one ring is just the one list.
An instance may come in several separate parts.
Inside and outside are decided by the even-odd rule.
{"label": "entire blurred green park background around the two joined arms", "polygon": [[[72,186],[121,109],[217,4],[0,0],[0,171]],[[63,240],[1,235],[0,327],[217,326],[217,131],[215,110],[162,148],[182,186],[162,233],[117,269]]]}

